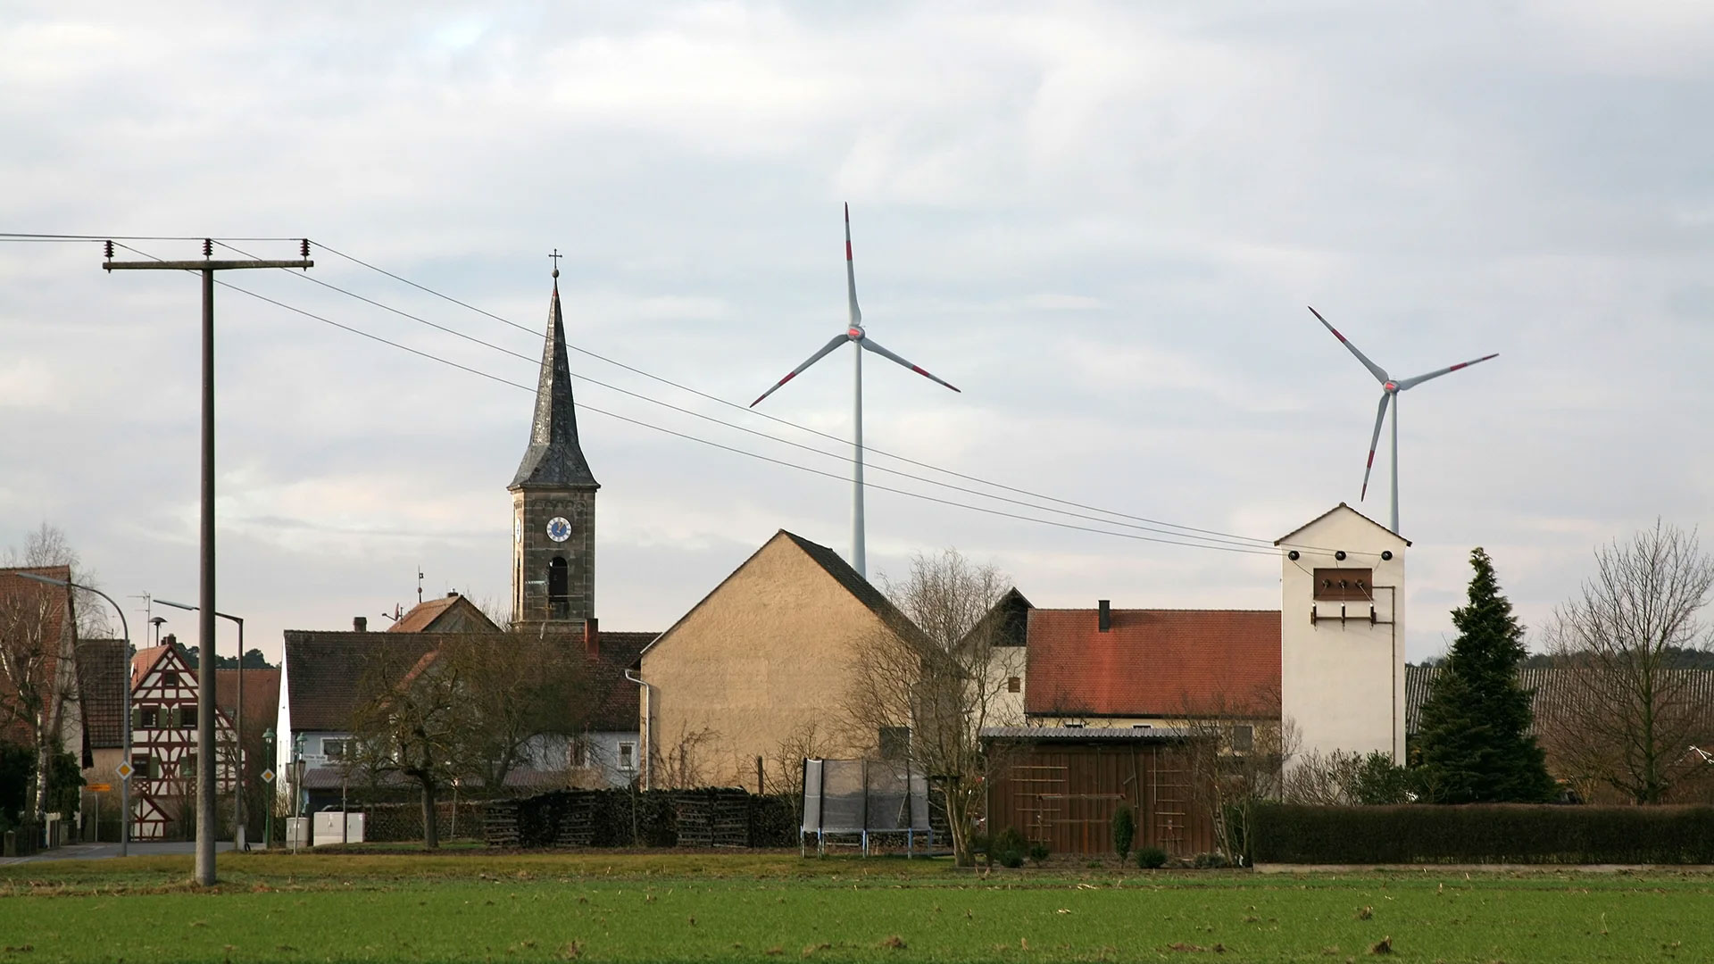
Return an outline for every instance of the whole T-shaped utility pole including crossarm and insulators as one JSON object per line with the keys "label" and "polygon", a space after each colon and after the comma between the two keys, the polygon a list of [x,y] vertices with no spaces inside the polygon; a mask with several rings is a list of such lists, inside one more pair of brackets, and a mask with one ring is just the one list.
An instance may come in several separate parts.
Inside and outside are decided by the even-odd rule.
{"label": "whole T-shaped utility pole including crossarm and insulators", "polygon": [[[214,787],[219,760],[214,750],[214,273],[243,268],[314,268],[310,242],[303,240],[298,261],[214,261],[214,242],[202,240],[202,261],[113,261],[106,242],[108,271],[201,271],[202,273],[202,587],[197,612],[197,865],[195,882],[214,885]],[[243,654],[238,654],[243,659]]]}

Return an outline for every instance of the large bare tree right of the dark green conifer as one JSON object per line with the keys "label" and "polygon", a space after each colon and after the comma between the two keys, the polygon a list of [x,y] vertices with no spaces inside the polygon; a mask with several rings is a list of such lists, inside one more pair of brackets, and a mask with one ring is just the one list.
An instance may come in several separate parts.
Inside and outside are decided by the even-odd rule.
{"label": "large bare tree right of the dark green conifer", "polygon": [[1711,590],[1714,559],[1695,530],[1656,521],[1596,551],[1596,575],[1548,636],[1560,676],[1539,729],[1572,779],[1664,803],[1709,770],[1690,748],[1714,736],[1714,707],[1697,698],[1685,657],[1709,648]]}

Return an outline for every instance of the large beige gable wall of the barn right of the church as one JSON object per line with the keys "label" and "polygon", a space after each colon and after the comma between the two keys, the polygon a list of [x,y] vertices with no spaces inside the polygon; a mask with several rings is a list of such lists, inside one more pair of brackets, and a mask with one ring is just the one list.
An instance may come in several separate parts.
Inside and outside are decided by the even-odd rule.
{"label": "large beige gable wall of the barn right of the church", "polygon": [[689,734],[689,767],[706,786],[756,787],[756,756],[776,780],[780,744],[807,724],[828,755],[869,750],[843,736],[857,640],[884,631],[874,612],[788,537],[775,535],[643,654],[648,780],[670,786]]}

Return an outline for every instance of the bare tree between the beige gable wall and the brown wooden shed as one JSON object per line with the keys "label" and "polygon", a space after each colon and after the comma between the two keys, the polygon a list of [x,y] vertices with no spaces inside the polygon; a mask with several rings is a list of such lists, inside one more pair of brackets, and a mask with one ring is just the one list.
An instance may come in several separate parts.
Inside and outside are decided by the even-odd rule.
{"label": "bare tree between the beige gable wall and the brown wooden shed", "polygon": [[[919,552],[903,581],[881,576],[881,588],[903,619],[854,647],[843,707],[850,743],[883,756],[908,751],[943,794],[958,863],[972,865],[986,782],[1004,763],[984,751],[980,732],[1023,724],[1006,696],[1008,679],[1023,672],[1023,648],[1001,645],[1003,619],[991,616],[1010,581],[946,549]],[[1022,744],[1006,753],[1016,751]]]}

